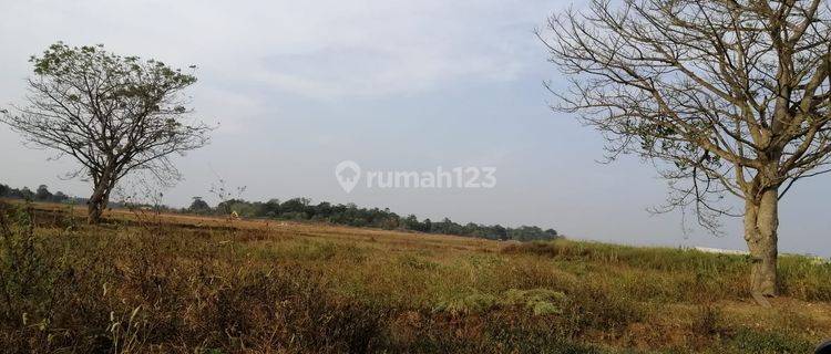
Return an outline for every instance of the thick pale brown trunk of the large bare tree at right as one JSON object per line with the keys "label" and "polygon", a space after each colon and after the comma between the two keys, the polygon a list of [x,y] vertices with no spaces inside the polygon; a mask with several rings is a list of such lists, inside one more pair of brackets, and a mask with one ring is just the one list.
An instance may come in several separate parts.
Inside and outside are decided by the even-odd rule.
{"label": "thick pale brown trunk of the large bare tree at right", "polygon": [[779,228],[779,191],[766,189],[761,197],[748,198],[745,208],[745,240],[750,250],[750,291],[755,295],[776,296],[777,229]]}

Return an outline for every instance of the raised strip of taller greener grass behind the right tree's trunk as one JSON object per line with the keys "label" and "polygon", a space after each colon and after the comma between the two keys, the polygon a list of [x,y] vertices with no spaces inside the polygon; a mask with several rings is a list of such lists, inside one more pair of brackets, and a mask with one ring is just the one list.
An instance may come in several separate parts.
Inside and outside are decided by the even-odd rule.
{"label": "raised strip of taller greener grass behind the right tree's trunk", "polygon": [[[640,298],[666,296],[691,301],[745,299],[749,295],[747,256],[714,254],[696,250],[647,248],[575,242],[531,242],[511,244],[509,254],[535,254],[562,262],[599,263],[617,272],[619,287],[642,292]],[[784,295],[804,301],[831,302],[831,263],[817,263],[799,256],[779,260]]]}

